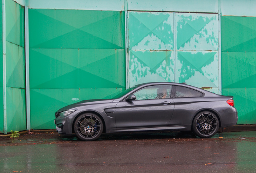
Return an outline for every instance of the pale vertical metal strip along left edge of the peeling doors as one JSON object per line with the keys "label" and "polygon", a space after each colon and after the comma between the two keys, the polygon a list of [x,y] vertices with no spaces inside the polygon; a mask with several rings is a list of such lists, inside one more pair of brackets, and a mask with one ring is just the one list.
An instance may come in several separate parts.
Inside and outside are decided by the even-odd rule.
{"label": "pale vertical metal strip along left edge of the peeling doors", "polygon": [[124,22],[125,22],[125,65],[126,65],[126,89],[128,89],[130,86],[130,82],[129,82],[129,33],[128,33],[128,2],[127,0],[125,1],[127,5],[125,5],[125,18],[124,18]]}

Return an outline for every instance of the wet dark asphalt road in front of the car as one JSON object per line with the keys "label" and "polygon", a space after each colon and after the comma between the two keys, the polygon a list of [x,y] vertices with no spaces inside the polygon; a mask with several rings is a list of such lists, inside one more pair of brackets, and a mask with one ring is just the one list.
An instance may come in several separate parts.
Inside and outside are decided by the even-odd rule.
{"label": "wet dark asphalt road in front of the car", "polygon": [[255,173],[256,131],[103,135],[0,139],[0,172],[85,173]]}

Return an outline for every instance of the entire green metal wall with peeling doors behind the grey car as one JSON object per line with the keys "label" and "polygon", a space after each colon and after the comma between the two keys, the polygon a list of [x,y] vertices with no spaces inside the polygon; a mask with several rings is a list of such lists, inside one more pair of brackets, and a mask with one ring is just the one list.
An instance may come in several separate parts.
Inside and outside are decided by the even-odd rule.
{"label": "entire green metal wall with peeling doors behind the grey car", "polygon": [[[5,5],[10,132],[26,129],[25,12],[13,0],[5,0]],[[150,81],[187,82],[214,93],[220,89],[223,95],[234,96],[238,124],[256,123],[254,17],[221,16],[219,57],[218,14],[126,10],[127,33],[124,11],[29,9],[31,128],[54,129],[54,113],[59,108],[84,99],[110,98],[124,90],[126,82],[131,87]],[[2,41],[0,47],[2,52]],[[0,114],[0,133],[3,124]]]}

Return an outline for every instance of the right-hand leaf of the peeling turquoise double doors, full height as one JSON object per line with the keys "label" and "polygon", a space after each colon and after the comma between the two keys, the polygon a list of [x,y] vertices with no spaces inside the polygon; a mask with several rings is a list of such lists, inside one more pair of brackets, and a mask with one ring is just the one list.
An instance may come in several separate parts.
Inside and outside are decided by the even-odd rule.
{"label": "right-hand leaf of the peeling turquoise double doors, full height", "polygon": [[176,13],[176,82],[219,93],[217,14]]}

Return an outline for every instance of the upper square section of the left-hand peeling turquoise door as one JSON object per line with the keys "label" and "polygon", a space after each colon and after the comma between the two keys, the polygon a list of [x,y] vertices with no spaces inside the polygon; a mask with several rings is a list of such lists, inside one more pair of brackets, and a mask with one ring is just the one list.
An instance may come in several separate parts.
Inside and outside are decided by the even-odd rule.
{"label": "upper square section of the left-hand peeling turquoise door", "polygon": [[173,50],[173,13],[129,12],[130,50]]}

